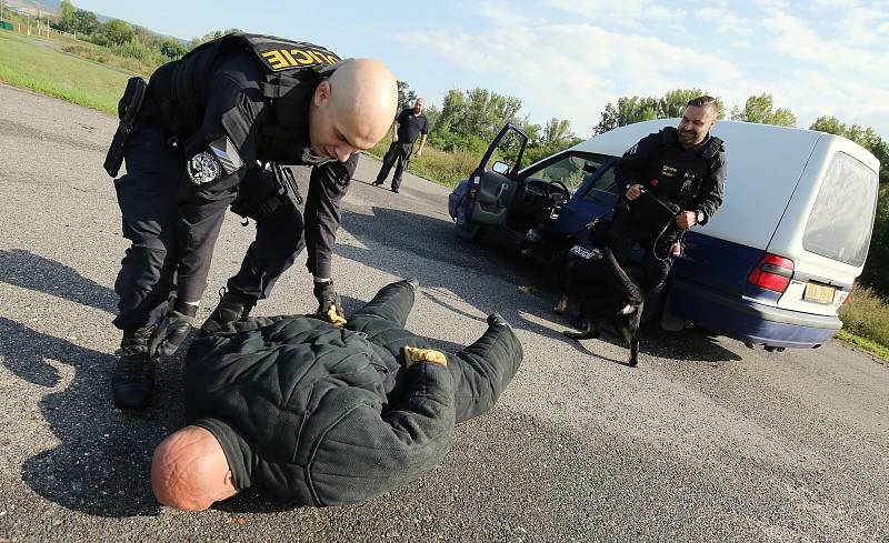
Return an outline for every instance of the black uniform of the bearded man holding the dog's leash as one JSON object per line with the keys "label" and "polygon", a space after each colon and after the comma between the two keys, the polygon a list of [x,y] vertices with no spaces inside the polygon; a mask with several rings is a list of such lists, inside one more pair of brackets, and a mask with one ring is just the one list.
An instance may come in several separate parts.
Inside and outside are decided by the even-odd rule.
{"label": "black uniform of the bearded man holding the dog's leash", "polygon": [[[706,224],[722,204],[722,189],[728,171],[722,140],[708,137],[701,144],[686,150],[679,132],[668,127],[642,138],[630,148],[615,168],[615,178],[622,190],[641,184],[658,199],[695,211],[698,223]],[[663,223],[652,223],[641,203],[630,202],[618,211],[608,230],[608,244],[623,263],[633,244],[646,251],[642,260],[646,290],[660,288],[672,267],[669,245],[676,239]],[[669,220],[667,221],[669,222]]]}

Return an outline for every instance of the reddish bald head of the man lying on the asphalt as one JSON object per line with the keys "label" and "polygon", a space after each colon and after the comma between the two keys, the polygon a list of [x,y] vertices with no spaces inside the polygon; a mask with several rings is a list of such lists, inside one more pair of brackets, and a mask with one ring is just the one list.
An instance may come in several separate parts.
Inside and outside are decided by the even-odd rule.
{"label": "reddish bald head of the man lying on the asphalt", "polygon": [[203,511],[237,492],[222,445],[199,426],[173,432],[154,449],[151,490],[160,503],[182,511]]}

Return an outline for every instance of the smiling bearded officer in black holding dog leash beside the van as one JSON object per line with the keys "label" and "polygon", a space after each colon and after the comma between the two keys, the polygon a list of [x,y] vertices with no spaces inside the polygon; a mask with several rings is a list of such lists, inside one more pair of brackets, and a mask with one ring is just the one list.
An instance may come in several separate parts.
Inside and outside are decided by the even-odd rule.
{"label": "smiling bearded officer in black holding dog leash beside the van", "polygon": [[621,264],[636,243],[646,250],[643,291],[663,286],[682,233],[722,204],[728,163],[722,140],[710,135],[716,117],[713,98],[690,100],[678,128],[642,138],[615,168],[629,205],[616,214],[607,241]]}

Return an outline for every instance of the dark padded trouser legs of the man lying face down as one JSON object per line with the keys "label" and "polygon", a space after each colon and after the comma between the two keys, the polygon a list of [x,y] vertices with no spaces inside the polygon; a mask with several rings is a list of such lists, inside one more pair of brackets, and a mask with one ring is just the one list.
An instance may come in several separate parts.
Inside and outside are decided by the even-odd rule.
{"label": "dark padded trouser legs of the man lying face down", "polygon": [[[413,306],[413,289],[407,281],[383,286],[346,324],[364,332],[368,341],[382,346],[397,359],[404,346],[436,349],[426,339],[404,330]],[[455,383],[457,422],[487,413],[518,371],[522,349],[509,326],[489,326],[475,343],[449,353],[448,369]]]}

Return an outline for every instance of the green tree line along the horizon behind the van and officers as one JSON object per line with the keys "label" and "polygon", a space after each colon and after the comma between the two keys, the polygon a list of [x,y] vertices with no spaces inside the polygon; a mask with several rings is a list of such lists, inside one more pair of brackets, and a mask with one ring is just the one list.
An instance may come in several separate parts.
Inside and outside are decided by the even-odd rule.
{"label": "green tree line along the horizon behind the van and officers", "polygon": [[[107,47],[116,54],[136,58],[149,69],[177,60],[201,43],[237,31],[237,29],[217,30],[183,42],[119,19],[100,22],[94,13],[76,8],[70,0],[61,1],[59,13],[51,26],[76,33],[79,38],[97,46]],[[417,92],[403,81],[398,82],[398,94],[401,108],[412,107],[417,98]],[[686,103],[702,94],[709,92],[692,88],[673,89],[660,97],[621,97],[617,102],[606,104],[592,134],[635,122],[681,117]],[[723,101],[718,97],[717,102],[718,119],[728,115],[736,121],[781,127],[797,124],[797,115],[789,108],[776,107],[773,98],[768,93],[752,94],[743,105],[736,105],[730,111],[726,110]],[[462,151],[480,155],[503,124],[511,122],[528,135],[525,154],[527,161],[523,163],[530,163],[582,141],[583,138],[572,131],[568,119],[552,118],[545,124],[535,124],[527,114],[522,114],[521,107],[521,100],[518,98],[488,89],[475,88],[466,91],[451,89],[444,94],[441,107],[427,108],[430,124],[429,144],[446,152]],[[880,272],[889,265],[889,205],[886,202],[887,187],[889,187],[887,184],[889,143],[870,127],[846,124],[835,117],[820,117],[809,129],[843,135],[873,153],[880,161],[880,200],[870,257],[862,282],[889,294],[889,274]],[[507,145],[506,152],[515,157],[518,148]]]}

